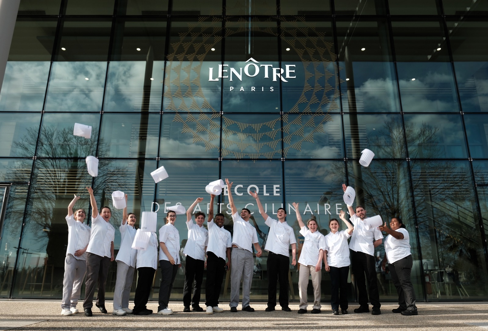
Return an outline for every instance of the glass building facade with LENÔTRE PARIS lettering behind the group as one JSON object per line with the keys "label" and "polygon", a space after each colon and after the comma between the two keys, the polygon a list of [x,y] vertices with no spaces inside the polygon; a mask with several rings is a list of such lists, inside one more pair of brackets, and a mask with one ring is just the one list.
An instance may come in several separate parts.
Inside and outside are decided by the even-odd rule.
{"label": "glass building facade with LEN\u00d4TRE PARIS lettering behind the group", "polygon": [[[88,210],[85,187],[99,206],[125,192],[138,218],[158,203],[159,228],[166,206],[203,196],[207,213],[205,185],[227,177],[261,245],[269,229],[249,190],[268,214],[285,208],[300,252],[292,202],[326,234],[347,183],[368,215],[404,220],[419,301],[487,300],[487,15],[488,0],[21,0],[0,93],[0,297],[61,299],[64,217],[74,194]],[[155,184],[161,166],[169,177]],[[227,203],[215,210],[232,232]],[[381,300],[396,301],[389,275],[378,279]],[[298,302],[291,264],[290,280]],[[229,292],[227,274],[221,300]],[[266,253],[251,292],[267,300]]]}

